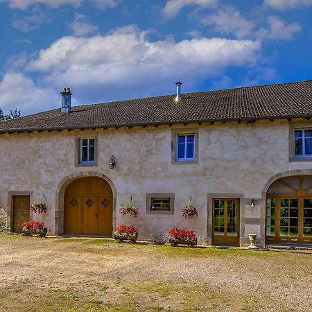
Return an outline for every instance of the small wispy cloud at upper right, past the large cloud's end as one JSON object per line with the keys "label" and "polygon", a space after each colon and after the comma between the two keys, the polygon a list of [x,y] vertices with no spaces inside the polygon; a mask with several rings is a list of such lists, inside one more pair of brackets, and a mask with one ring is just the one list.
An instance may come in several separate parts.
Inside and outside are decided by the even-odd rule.
{"label": "small wispy cloud at upper right, past the large cloud's end", "polygon": [[295,33],[301,30],[300,24],[286,25],[285,21],[276,16],[268,17],[269,29],[261,28],[257,36],[261,39],[290,40]]}

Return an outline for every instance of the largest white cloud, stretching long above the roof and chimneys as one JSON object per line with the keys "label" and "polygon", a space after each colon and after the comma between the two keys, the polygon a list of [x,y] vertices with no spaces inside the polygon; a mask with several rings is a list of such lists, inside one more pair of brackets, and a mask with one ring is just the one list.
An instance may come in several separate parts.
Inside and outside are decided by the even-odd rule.
{"label": "largest white cloud, stretching long above the roof and chimneys", "polygon": [[46,85],[69,86],[80,101],[111,101],[174,92],[176,80],[193,87],[226,67],[252,66],[259,42],[205,38],[151,42],[134,26],[107,35],[62,37],[42,49],[26,67]]}

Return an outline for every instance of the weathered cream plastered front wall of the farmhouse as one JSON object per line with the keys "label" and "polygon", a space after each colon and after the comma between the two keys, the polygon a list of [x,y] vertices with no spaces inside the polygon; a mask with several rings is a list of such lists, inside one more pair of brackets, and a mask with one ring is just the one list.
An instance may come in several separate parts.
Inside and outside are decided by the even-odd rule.
{"label": "weathered cream plastered front wall of the farmhouse", "polygon": [[[264,238],[265,202],[263,187],[279,173],[312,169],[312,162],[289,162],[288,121],[245,123],[203,123],[199,128],[198,164],[171,164],[172,129],[184,125],[148,126],[118,130],[74,130],[0,135],[0,205],[11,214],[8,192],[33,192],[33,200],[44,199],[48,210],[43,220],[49,234],[55,234],[62,218],[62,205],[55,196],[60,183],[70,175],[95,172],[108,177],[116,189],[116,220],[135,225],[140,238],[157,238],[173,227],[195,229],[211,242],[211,200],[216,194],[237,194],[241,198],[241,242],[250,232]],[[189,125],[194,128],[194,125]],[[98,135],[97,166],[75,166],[77,137]],[[116,167],[108,163],[114,155]],[[298,171],[299,172],[299,171]],[[174,215],[146,214],[146,193],[175,193]],[[210,194],[210,195],[209,195]],[[139,216],[121,216],[118,208],[132,196]],[[192,196],[199,216],[184,219],[180,208]],[[210,197],[211,198],[211,197]],[[254,198],[255,207],[251,209]],[[57,218],[55,221],[55,210]],[[10,222],[10,221],[9,221]],[[62,225],[60,225],[62,227]],[[58,229],[61,233],[62,229]]]}

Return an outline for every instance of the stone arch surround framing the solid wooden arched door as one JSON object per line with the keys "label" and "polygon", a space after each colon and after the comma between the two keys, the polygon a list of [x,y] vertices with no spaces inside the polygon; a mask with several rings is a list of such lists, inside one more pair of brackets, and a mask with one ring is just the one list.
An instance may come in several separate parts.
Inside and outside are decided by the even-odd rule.
{"label": "stone arch surround framing the solid wooden arched door", "polygon": [[113,194],[113,228],[116,227],[116,187],[112,180],[103,173],[97,171],[80,171],[71,173],[64,177],[58,184],[57,191],[55,193],[55,234],[62,236],[64,233],[64,193],[68,185],[73,180],[79,179],[80,177],[101,177],[112,189]]}

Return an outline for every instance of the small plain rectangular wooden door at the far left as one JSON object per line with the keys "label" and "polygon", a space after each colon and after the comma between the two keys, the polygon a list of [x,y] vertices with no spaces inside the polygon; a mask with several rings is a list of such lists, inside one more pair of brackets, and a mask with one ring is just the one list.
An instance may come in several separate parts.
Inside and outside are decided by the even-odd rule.
{"label": "small plain rectangular wooden door at the far left", "polygon": [[13,207],[13,222],[12,232],[21,233],[21,223],[29,221],[29,206],[30,196],[28,195],[15,195],[12,196],[12,207]]}

